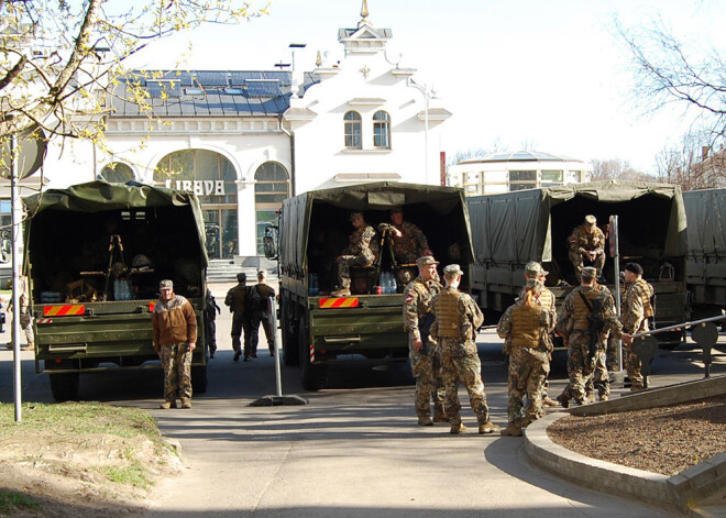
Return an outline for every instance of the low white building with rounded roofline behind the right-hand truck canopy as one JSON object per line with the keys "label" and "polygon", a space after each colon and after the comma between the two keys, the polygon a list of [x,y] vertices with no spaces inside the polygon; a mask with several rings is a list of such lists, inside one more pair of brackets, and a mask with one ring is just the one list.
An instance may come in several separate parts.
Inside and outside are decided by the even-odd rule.
{"label": "low white building with rounded roofline behind the right-hand truck canopy", "polygon": [[590,181],[591,163],[566,156],[519,151],[493,153],[449,167],[449,185],[463,187],[466,196]]}

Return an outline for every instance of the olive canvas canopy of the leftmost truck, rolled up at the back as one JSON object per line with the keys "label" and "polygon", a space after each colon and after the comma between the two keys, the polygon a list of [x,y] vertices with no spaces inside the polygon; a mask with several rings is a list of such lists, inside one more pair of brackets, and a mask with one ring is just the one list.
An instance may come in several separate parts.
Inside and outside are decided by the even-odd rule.
{"label": "olive canvas canopy of the leftmost truck, rolled up at the back", "polygon": [[185,207],[191,209],[197,225],[197,236],[202,254],[202,266],[209,261],[205,246],[205,223],[197,198],[190,192],[154,187],[129,181],[108,184],[89,181],[66,189],[48,189],[23,200],[29,216],[44,210],[66,210],[72,212],[102,212],[109,210],[141,209],[153,207]]}

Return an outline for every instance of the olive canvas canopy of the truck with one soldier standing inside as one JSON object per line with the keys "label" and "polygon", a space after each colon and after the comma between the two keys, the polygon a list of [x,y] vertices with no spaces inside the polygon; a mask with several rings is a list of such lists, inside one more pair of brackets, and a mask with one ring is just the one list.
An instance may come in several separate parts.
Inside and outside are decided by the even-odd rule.
{"label": "olive canvas canopy of the truck with one soldier standing inside", "polygon": [[668,224],[664,253],[667,256],[685,255],[686,219],[679,186],[607,180],[469,198],[476,261],[480,264],[552,261],[552,208],[573,198],[616,203],[646,196],[672,200],[669,220],[662,222]]}

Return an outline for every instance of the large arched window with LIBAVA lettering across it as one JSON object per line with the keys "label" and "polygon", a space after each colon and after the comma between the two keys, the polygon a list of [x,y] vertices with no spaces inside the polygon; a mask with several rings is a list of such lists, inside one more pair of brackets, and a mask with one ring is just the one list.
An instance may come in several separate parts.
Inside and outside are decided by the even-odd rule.
{"label": "large arched window with LIBAVA lettering across it", "polygon": [[197,194],[205,218],[209,258],[229,258],[237,254],[237,172],[224,155],[208,150],[175,151],[156,164],[154,181]]}

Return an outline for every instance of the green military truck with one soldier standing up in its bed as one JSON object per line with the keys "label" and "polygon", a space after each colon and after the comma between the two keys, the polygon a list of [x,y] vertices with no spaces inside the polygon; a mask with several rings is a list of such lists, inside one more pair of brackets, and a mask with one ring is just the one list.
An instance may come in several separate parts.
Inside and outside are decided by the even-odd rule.
{"label": "green military truck with one soldier standing up in its bed", "polygon": [[[586,214],[597,218],[606,236],[609,217],[618,217],[620,271],[628,262],[642,266],[656,290],[656,324],[685,321],[685,209],[679,186],[609,180],[479,196],[469,198],[469,214],[476,255],[472,294],[487,323],[496,323],[519,295],[529,261],[550,272],[547,286],[558,305],[563,301],[576,285],[568,238]],[[604,276],[615,291],[612,253]],[[672,331],[658,340],[678,345],[682,337]]]}

